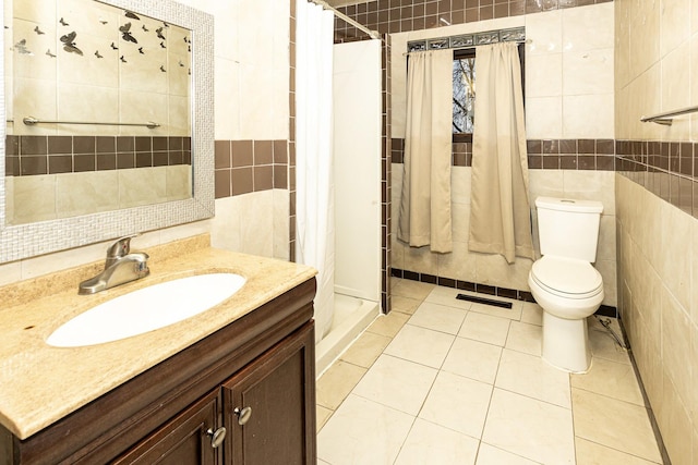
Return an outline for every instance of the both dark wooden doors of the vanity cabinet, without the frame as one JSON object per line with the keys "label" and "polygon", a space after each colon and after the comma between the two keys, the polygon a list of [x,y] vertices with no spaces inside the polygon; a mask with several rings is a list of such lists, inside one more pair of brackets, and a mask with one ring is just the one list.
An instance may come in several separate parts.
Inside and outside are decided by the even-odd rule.
{"label": "both dark wooden doors of the vanity cabinet, without the frame", "polygon": [[[314,464],[314,342],[308,323],[115,463]],[[214,448],[221,427],[225,439]]]}

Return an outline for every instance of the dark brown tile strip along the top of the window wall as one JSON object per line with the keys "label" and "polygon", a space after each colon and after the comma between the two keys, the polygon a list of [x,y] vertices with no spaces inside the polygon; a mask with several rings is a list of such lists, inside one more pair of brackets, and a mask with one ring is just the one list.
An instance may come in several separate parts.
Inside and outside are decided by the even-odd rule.
{"label": "dark brown tile strip along the top of the window wall", "polygon": [[[370,29],[394,34],[610,1],[613,0],[373,0],[338,10]],[[336,40],[364,36],[342,20],[335,21]]]}

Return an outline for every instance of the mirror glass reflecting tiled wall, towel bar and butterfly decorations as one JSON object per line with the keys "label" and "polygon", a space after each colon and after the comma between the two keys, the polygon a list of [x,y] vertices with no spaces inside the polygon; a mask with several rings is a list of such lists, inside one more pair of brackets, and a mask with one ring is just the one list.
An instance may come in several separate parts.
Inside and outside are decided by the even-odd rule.
{"label": "mirror glass reflecting tiled wall, towel bar and butterfly decorations", "polygon": [[7,223],[189,198],[191,30],[91,0],[8,12]]}

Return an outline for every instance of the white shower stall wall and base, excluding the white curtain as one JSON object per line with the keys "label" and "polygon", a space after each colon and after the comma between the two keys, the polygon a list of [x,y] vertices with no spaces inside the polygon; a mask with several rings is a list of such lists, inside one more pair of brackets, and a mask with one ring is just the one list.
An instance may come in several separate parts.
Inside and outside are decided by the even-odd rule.
{"label": "white shower stall wall and base, excluding the white curtain", "polygon": [[334,46],[334,316],[316,345],[318,374],[380,313],[381,79],[381,40]]}

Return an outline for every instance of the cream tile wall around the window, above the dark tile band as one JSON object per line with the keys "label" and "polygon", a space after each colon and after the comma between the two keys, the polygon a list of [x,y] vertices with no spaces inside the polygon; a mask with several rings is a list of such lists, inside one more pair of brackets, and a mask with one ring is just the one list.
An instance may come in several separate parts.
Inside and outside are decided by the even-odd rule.
{"label": "cream tile wall around the window, above the dark tile band", "polygon": [[409,40],[526,27],[529,139],[615,139],[613,3],[393,35],[393,137],[404,137]]}

